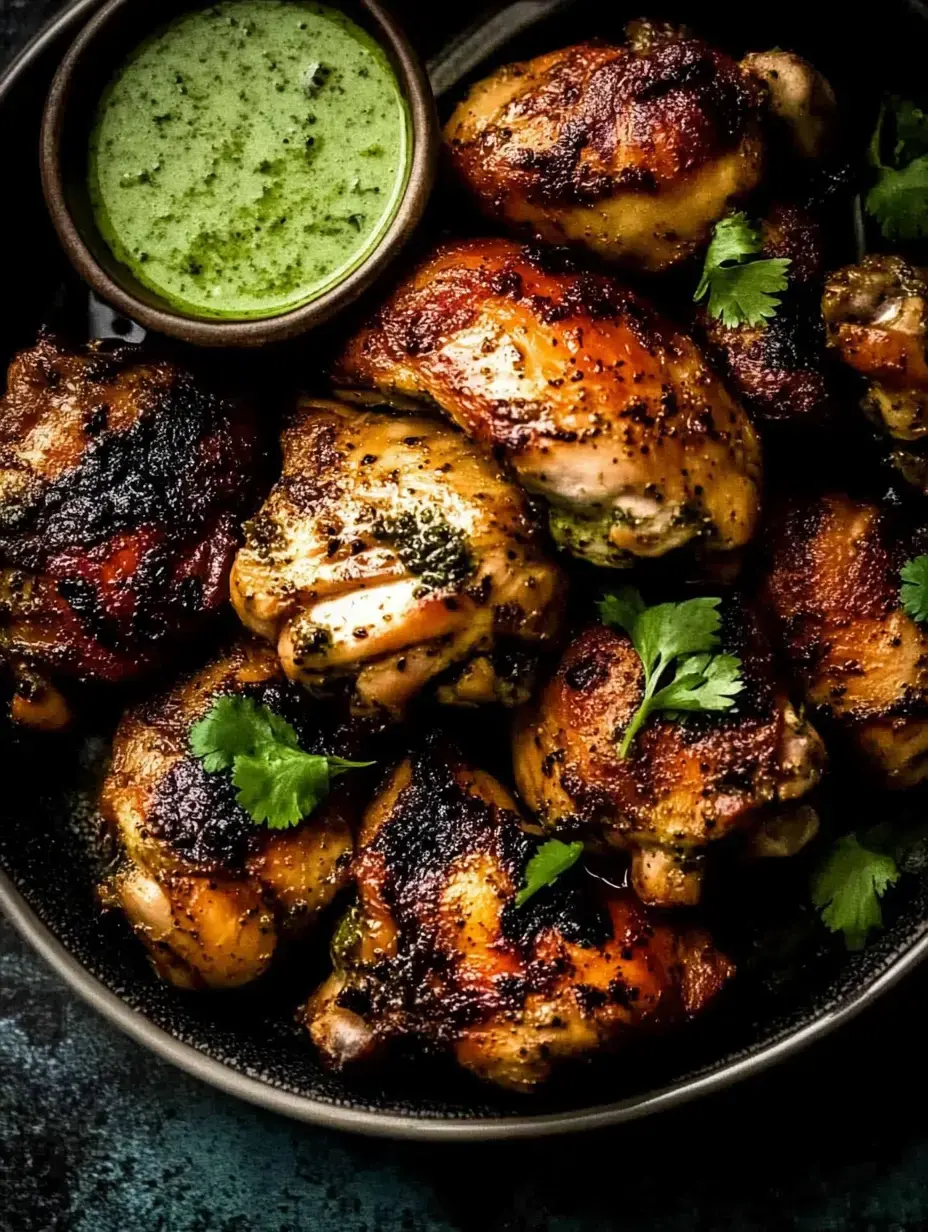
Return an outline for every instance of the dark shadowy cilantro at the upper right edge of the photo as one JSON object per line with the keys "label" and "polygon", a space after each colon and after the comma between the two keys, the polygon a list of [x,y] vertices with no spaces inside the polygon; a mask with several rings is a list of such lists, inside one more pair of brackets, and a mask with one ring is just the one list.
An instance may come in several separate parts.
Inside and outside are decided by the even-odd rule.
{"label": "dark shadowy cilantro at the upper right edge of the photo", "polygon": [[876,181],[864,201],[886,239],[928,238],[928,116],[906,99],[886,99],[870,140]]}

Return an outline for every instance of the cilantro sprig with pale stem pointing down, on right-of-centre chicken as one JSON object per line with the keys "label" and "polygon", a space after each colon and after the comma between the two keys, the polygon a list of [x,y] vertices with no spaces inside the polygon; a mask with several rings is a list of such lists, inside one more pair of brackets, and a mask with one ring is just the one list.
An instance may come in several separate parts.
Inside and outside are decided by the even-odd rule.
{"label": "cilantro sprig with pale stem pointing down, on right-of-centre chicken", "polygon": [[[599,602],[603,622],[625,630],[645,668],[645,697],[625,729],[620,758],[657,711],[725,711],[735,705],[744,687],[741,659],[712,653],[720,644],[720,604],[721,599],[688,599],[647,607],[633,586]],[[673,676],[659,689],[672,669]]]}

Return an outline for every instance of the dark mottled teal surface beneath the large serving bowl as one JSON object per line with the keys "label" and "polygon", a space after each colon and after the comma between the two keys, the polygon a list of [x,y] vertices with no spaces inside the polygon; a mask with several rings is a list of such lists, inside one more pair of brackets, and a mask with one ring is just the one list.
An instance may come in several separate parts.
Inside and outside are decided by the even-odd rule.
{"label": "dark mottled teal surface beneath the large serving bowl", "polygon": [[[0,0],[0,59],[58,4]],[[2,217],[16,181],[0,176]],[[928,1228],[927,994],[928,970],[789,1064],[625,1129],[404,1145],[195,1083],[0,920],[0,1232]]]}

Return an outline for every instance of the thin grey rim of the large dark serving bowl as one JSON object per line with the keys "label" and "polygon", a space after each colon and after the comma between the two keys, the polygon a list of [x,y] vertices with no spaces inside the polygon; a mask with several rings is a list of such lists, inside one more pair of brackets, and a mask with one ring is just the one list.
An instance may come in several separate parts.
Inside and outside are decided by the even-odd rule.
{"label": "thin grey rim of the large dark serving bowl", "polygon": [[[69,0],[63,11],[27,43],[5,71],[0,73],[0,107],[20,78],[33,67],[54,39],[70,32],[104,2],[105,0]],[[905,0],[905,2],[928,21],[928,6],[922,0]],[[735,1082],[759,1074],[811,1044],[824,1039],[876,1002],[928,956],[927,928],[921,936],[890,960],[886,968],[876,978],[853,997],[831,1009],[820,1011],[810,1023],[797,1030],[789,1031],[758,1051],[748,1052],[736,1061],[722,1062],[717,1068],[695,1074],[691,1078],[669,1083],[625,1100],[585,1109],[540,1116],[527,1114],[493,1119],[449,1117],[440,1120],[330,1104],[308,1095],[293,1094],[232,1069],[192,1045],[175,1039],[111,992],[58,940],[2,869],[0,869],[0,909],[26,944],[84,1002],[137,1044],[149,1048],[161,1060],[193,1078],[246,1103],[280,1112],[297,1121],[370,1137],[436,1142],[539,1138],[600,1130],[690,1103],[700,1096],[722,1090]]]}

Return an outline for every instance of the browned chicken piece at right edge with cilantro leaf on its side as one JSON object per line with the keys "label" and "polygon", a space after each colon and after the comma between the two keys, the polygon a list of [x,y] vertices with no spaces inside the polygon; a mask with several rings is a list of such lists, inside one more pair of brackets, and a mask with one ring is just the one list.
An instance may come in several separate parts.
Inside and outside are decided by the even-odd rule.
{"label": "browned chicken piece at right edge with cilantro leaf on its side", "polygon": [[902,610],[898,575],[927,546],[838,493],[784,500],[768,533],[764,600],[805,700],[890,787],[928,775],[928,634]]}

